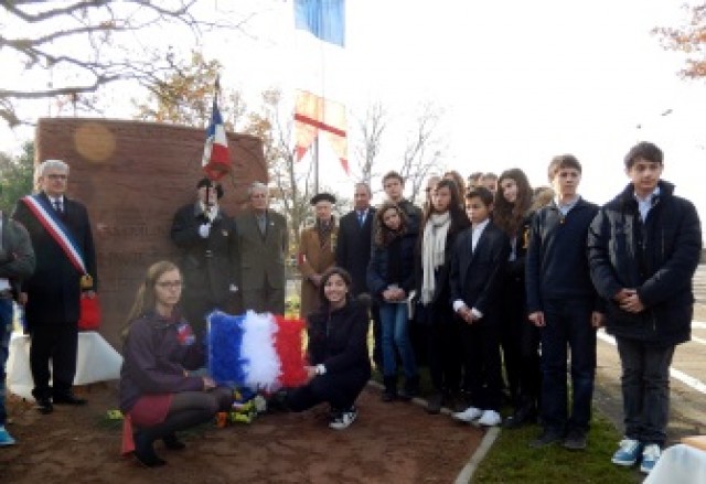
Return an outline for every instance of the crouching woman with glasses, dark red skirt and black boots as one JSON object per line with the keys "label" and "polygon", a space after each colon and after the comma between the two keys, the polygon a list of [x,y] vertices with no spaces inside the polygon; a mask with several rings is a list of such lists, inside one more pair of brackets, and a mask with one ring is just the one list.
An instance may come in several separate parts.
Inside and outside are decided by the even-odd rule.
{"label": "crouching woman with glasses, dark red skirt and black boots", "polygon": [[176,309],[181,290],[182,275],[174,263],[152,265],[122,331],[122,451],[133,451],[148,467],[165,463],[154,453],[156,440],[170,450],[183,449],[176,431],[213,419],[232,401],[231,391],[216,388],[211,377],[188,372],[202,367],[205,357],[203,345]]}

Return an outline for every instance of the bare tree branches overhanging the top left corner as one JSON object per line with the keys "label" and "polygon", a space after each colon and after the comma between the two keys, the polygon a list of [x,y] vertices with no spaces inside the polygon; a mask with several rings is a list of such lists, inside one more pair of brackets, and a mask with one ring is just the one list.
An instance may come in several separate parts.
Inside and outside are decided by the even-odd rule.
{"label": "bare tree branches overhanging the top left corner", "polygon": [[[253,14],[239,21],[206,20],[194,13],[196,0],[73,0],[0,1],[0,52],[3,61],[0,117],[11,126],[24,122],[18,101],[64,96],[74,106],[107,84],[137,80],[152,85],[174,67],[164,46],[156,47],[156,28],[180,30],[162,42],[189,32],[196,39],[216,29],[240,29]],[[140,42],[145,39],[148,42]],[[21,72],[8,86],[9,72]],[[28,78],[51,73],[46,87],[36,88]],[[47,74],[49,76],[49,74]],[[40,77],[41,78],[41,77]],[[87,96],[87,98],[86,98]]]}

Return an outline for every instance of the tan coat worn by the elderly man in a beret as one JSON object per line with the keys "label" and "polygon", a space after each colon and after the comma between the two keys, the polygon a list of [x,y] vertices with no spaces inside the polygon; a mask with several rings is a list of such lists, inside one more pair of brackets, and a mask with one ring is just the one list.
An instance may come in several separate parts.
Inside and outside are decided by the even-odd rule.
{"label": "tan coat worn by the elderly man in a beret", "polygon": [[307,316],[311,311],[319,309],[319,288],[309,280],[309,277],[323,273],[335,265],[335,246],[338,244],[339,226],[333,221],[331,240],[321,247],[317,227],[304,228],[299,241],[299,270],[301,271],[301,309],[300,314]]}

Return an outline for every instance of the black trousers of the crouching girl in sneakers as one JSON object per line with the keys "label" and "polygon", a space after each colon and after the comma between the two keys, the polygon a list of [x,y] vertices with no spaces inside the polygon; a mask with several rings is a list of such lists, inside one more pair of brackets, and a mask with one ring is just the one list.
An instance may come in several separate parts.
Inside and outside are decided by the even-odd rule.
{"label": "black trousers of the crouching girl in sneakers", "polygon": [[309,384],[287,394],[287,407],[292,411],[303,411],[327,402],[334,410],[347,410],[355,404],[370,377],[370,368],[315,376]]}

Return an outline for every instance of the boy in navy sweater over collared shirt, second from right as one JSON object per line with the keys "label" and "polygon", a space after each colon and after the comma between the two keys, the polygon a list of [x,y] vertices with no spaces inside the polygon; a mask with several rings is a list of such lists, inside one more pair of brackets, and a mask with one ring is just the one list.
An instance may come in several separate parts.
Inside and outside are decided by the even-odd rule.
{"label": "boy in navy sweater over collared shirt, second from right", "polygon": [[[596,329],[603,315],[591,284],[586,239],[598,206],[578,195],[581,164],[571,154],[555,157],[548,168],[555,200],[541,208],[530,230],[525,267],[527,313],[542,333],[541,448],[564,441],[586,448],[596,375]],[[571,413],[567,413],[567,346],[571,354]]]}

